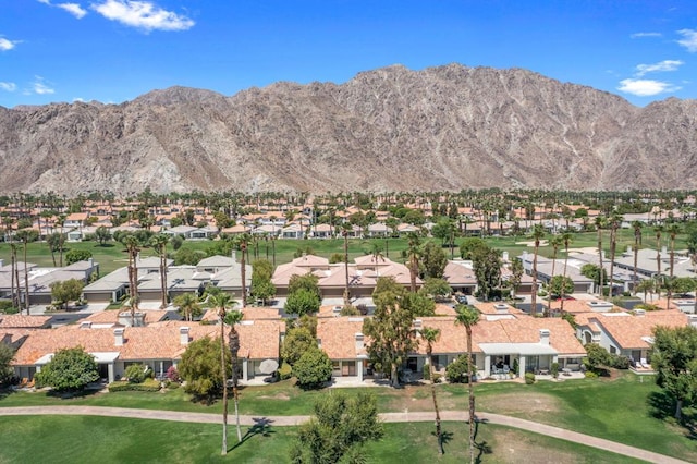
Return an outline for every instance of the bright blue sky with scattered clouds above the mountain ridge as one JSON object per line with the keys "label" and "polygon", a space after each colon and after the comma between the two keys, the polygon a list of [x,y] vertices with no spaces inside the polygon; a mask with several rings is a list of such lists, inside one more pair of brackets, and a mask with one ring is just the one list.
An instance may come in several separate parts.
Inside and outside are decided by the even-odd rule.
{"label": "bright blue sky with scattered clouds above the mountain ridge", "polygon": [[697,1],[0,0],[8,108],[453,62],[524,68],[637,106],[694,99]]}

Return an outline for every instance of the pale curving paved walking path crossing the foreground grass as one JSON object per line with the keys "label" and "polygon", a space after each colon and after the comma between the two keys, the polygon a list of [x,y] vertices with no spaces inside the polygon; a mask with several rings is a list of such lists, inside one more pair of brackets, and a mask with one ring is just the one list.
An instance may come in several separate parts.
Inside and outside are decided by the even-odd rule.
{"label": "pale curving paved walking path crossing the foreground grass", "polygon": [[[218,424],[219,414],[185,413],[180,411],[135,410],[129,407],[102,407],[102,406],[25,406],[0,407],[0,416],[24,415],[80,415],[80,416],[109,416],[126,417],[135,419],[173,420],[184,423]],[[548,437],[573,441],[587,447],[598,448],[604,451],[622,454],[629,457],[644,460],[651,463],[685,464],[685,461],[670,457],[651,451],[634,448],[615,441],[578,434],[559,427],[519,419],[517,417],[503,416],[492,413],[478,413],[477,419],[481,423],[497,424],[506,427],[519,428]],[[433,413],[430,412],[404,412],[383,413],[380,418],[386,423],[416,423],[432,422]],[[443,411],[442,420],[467,420],[466,412]],[[234,423],[234,415],[229,416],[229,422]],[[240,424],[244,426],[297,426],[309,420],[309,416],[249,416],[241,415]]]}

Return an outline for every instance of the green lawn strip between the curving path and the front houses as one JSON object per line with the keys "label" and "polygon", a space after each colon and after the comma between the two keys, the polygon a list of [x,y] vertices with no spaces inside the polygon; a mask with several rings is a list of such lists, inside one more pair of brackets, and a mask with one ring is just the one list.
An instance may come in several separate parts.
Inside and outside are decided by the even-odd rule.
{"label": "green lawn strip between the curving path and the front houses", "polygon": [[[378,396],[380,412],[432,411],[427,387],[345,389],[347,394],[369,390]],[[477,408],[554,425],[659,453],[697,462],[697,442],[687,429],[670,419],[670,405],[657,408],[661,390],[651,377],[622,373],[613,379],[539,381],[533,386],[512,382],[478,383]],[[242,389],[242,414],[308,415],[318,395],[303,392],[288,381]],[[466,386],[439,386],[441,410],[464,411]],[[220,414],[221,405],[193,403],[182,389],[167,393],[97,393],[69,400],[44,392],[0,395],[0,407],[21,405],[101,405]],[[694,414],[692,410],[687,414]],[[665,417],[668,415],[668,417]]]}

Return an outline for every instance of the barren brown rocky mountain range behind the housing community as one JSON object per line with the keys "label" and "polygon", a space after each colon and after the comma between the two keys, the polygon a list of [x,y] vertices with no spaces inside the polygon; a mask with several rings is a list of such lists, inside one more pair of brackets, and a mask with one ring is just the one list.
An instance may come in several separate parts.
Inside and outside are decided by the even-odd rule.
{"label": "barren brown rocky mountain range behind the housing community", "polygon": [[461,64],[0,107],[0,193],[696,188],[696,157],[697,100]]}

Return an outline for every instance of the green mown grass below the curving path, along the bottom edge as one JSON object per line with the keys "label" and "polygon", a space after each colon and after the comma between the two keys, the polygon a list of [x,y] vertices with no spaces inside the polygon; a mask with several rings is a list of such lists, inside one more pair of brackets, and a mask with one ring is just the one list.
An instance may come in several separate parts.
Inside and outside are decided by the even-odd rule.
{"label": "green mown grass below the curving path, along the bottom edge", "polygon": [[[468,427],[444,423],[449,437],[445,454],[439,456],[433,425],[386,424],[384,438],[366,448],[368,462],[462,463],[468,457]],[[221,426],[163,420],[139,420],[91,416],[17,416],[3,418],[0,429],[0,462],[171,462],[171,463],[286,463],[295,437],[293,427],[255,430],[243,427],[237,445],[234,426],[228,430],[229,452],[220,455]],[[634,460],[609,454],[577,443],[523,430],[481,424],[477,442],[487,453],[484,462],[631,463]],[[479,454],[479,451],[477,451]]]}

